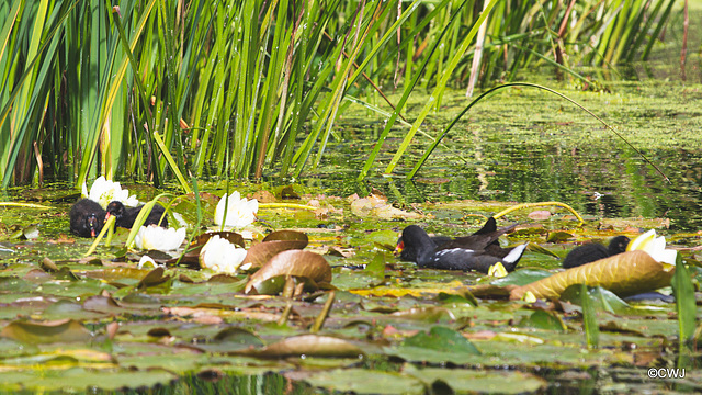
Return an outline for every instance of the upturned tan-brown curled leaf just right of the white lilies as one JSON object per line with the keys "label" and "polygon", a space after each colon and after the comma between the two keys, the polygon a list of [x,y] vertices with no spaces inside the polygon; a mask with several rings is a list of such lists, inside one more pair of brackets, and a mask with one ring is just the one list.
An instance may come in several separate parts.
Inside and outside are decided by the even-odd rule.
{"label": "upturned tan-brown curled leaf just right of the white lilies", "polygon": [[245,292],[250,293],[256,289],[259,294],[276,294],[285,284],[284,278],[282,280],[276,278],[291,275],[307,279],[312,281],[309,285],[316,287],[317,283],[331,282],[331,268],[318,253],[301,250],[283,251],[251,275]]}

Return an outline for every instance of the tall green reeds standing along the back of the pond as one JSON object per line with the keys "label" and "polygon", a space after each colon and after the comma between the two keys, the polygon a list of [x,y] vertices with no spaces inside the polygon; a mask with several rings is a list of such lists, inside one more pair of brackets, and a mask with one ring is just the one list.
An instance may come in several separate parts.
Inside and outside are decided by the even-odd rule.
{"label": "tall green reeds standing along the back of the pond", "polygon": [[[432,90],[414,135],[449,81],[467,82],[482,21],[484,86],[544,63],[582,78],[575,65],[645,58],[672,3],[5,1],[2,187],[298,177],[352,101],[393,112],[389,131],[407,97]],[[396,110],[374,88],[390,81],[404,89]]]}

